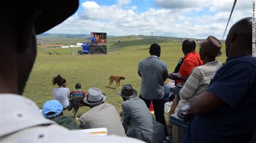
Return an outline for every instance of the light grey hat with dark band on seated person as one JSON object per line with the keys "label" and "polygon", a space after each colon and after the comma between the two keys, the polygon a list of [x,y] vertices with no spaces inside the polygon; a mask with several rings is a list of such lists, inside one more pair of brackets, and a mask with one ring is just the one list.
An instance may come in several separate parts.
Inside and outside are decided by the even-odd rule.
{"label": "light grey hat with dark band on seated person", "polygon": [[89,105],[98,105],[106,100],[106,96],[98,88],[90,88],[87,97],[84,98],[84,103]]}

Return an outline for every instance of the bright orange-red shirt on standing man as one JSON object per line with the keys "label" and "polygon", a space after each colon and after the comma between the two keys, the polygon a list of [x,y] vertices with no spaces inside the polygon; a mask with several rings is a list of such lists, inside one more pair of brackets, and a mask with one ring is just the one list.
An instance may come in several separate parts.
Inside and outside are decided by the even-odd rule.
{"label": "bright orange-red shirt on standing man", "polygon": [[[194,67],[203,65],[203,61],[200,60],[200,55],[197,52],[190,52],[183,58],[183,63],[180,66],[179,73],[181,77],[190,76],[191,70]],[[185,81],[177,80],[177,83]]]}

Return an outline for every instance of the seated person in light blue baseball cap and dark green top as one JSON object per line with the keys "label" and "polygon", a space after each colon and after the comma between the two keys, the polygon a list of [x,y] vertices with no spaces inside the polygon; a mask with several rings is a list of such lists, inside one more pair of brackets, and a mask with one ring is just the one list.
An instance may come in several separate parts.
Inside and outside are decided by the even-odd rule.
{"label": "seated person in light blue baseball cap and dark green top", "polygon": [[45,102],[42,111],[45,118],[53,120],[61,126],[64,126],[70,130],[80,129],[75,120],[73,120],[71,117],[66,117],[63,115],[63,106],[57,100]]}

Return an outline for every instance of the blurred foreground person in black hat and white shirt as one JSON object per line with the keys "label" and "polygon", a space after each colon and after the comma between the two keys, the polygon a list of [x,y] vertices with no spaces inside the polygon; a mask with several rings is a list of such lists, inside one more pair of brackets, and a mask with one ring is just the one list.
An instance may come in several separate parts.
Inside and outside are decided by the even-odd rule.
{"label": "blurred foreground person in black hat and white shirt", "polygon": [[21,96],[36,59],[36,34],[62,23],[76,12],[78,5],[78,0],[5,1],[1,4],[0,142],[139,141],[68,130],[45,119],[33,101]]}

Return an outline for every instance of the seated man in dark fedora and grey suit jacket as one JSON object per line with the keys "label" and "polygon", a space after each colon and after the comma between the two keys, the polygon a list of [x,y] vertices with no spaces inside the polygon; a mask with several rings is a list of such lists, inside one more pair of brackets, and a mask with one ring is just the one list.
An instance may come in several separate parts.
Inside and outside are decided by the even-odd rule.
{"label": "seated man in dark fedora and grey suit jacket", "polygon": [[137,98],[137,91],[132,85],[124,85],[118,93],[123,97],[123,126],[128,137],[146,142],[162,142],[165,140],[165,127],[151,115],[145,102]]}

